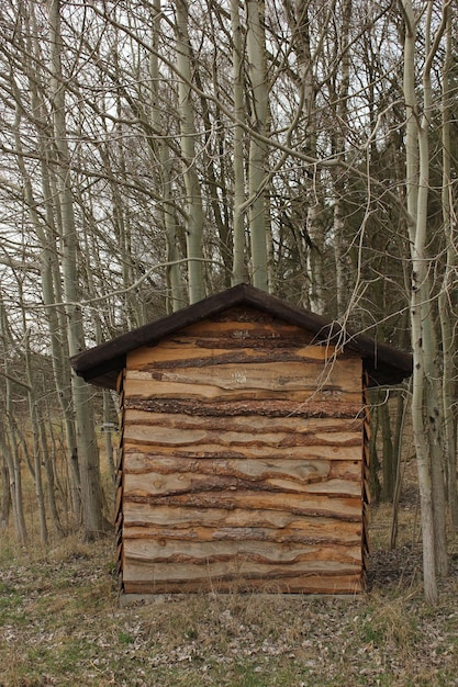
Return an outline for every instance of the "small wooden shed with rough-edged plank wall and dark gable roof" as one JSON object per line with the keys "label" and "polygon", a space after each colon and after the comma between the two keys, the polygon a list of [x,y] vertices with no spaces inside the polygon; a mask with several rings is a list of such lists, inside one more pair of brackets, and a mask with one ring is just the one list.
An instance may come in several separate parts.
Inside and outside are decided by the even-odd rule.
{"label": "small wooden shed with rough-edged plank wall and dark gable roof", "polygon": [[410,354],[241,284],[72,365],[120,394],[122,593],[364,588],[365,391]]}

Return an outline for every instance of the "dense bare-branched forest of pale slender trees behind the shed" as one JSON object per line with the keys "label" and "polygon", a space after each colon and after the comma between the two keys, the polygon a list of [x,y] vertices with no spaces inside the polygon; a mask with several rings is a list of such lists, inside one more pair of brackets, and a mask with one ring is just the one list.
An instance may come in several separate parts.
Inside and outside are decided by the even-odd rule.
{"label": "dense bare-branched forest of pale slender trees behind the shed", "polygon": [[458,525],[457,32],[451,0],[1,3],[2,527],[27,540],[25,468],[43,542],[107,528],[116,398],[70,357],[246,281],[413,350],[391,421],[371,398],[375,488],[394,497],[409,402],[436,597]]}

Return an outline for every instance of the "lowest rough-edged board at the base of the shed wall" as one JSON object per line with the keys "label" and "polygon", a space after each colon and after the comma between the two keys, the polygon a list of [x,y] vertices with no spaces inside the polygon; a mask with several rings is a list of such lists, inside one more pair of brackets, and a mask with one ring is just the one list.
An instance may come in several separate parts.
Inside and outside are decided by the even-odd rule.
{"label": "lowest rough-edged board at the base of the shed wall", "polygon": [[197,592],[250,594],[338,594],[354,595],[362,590],[360,573],[349,575],[291,575],[272,581],[250,579],[192,579],[186,582],[126,581],[125,595],[190,594]]}

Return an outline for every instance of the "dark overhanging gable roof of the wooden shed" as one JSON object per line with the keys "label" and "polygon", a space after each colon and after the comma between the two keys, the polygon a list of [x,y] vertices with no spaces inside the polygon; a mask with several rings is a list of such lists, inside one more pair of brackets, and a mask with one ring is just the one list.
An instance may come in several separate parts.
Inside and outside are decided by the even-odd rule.
{"label": "dark overhanging gable roof of the wooden shed", "polygon": [[247,284],[238,284],[222,293],[203,299],[171,315],[127,331],[110,341],[90,348],[70,360],[79,376],[107,388],[116,387],[118,374],[125,367],[126,354],[143,346],[155,346],[163,338],[185,327],[219,315],[230,307],[246,305],[268,313],[283,322],[297,325],[314,336],[316,344],[327,342],[345,347],[360,354],[369,376],[369,386],[398,384],[412,374],[412,356],[368,336],[344,329],[310,311],[290,305]]}

